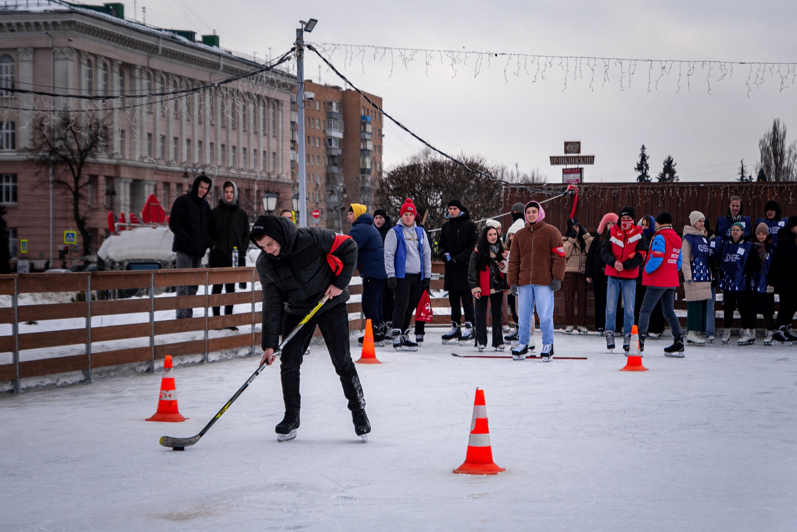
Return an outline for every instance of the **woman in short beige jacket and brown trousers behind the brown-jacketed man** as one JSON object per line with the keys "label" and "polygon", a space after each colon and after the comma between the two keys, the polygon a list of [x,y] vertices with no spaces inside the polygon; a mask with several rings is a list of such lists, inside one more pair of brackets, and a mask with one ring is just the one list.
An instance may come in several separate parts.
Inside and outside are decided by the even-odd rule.
{"label": "woman in short beige jacket and brown trousers behind the brown-jacketed man", "polygon": [[564,248],[564,324],[565,331],[573,332],[575,326],[575,294],[579,295],[579,333],[587,334],[587,253],[592,237],[571,218],[567,221],[567,233],[563,238]]}

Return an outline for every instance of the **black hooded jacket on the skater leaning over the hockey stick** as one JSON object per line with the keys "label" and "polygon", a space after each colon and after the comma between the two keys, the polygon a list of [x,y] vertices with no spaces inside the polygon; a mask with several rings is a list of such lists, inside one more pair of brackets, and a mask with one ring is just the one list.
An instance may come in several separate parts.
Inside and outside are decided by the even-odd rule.
{"label": "black hooded jacket on the skater leaning over the hockey stick", "polygon": [[[285,217],[261,216],[255,221],[249,239],[268,235],[281,244],[277,256],[261,248],[257,257],[257,274],[263,287],[263,349],[279,346],[282,315],[305,315],[324,296],[330,284],[343,290],[324,305],[317,315],[346,303],[348,284],[357,264],[357,244],[346,238],[332,255],[343,261],[340,275],[335,276],[327,262],[327,253],[335,242],[335,232],[318,227],[297,228]],[[259,247],[259,246],[258,246]]]}

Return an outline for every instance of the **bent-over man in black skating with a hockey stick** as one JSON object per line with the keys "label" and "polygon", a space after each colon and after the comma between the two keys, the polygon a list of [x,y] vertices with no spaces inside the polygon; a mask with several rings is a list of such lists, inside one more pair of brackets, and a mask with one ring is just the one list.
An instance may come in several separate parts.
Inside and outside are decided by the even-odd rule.
{"label": "bent-over man in black skating with a hockey stick", "polygon": [[287,337],[324,295],[330,296],[282,350],[280,374],[285,419],[275,429],[277,440],[296,437],[301,401],[299,369],[316,325],[343,385],[357,436],[371,432],[363,388],[349,353],[346,302],[348,284],[357,264],[357,244],[351,237],[336,236],[329,229],[299,229],[289,219],[277,216],[257,218],[249,238],[262,251],[257,257],[257,274],[263,288],[261,364],[273,362],[280,335]]}

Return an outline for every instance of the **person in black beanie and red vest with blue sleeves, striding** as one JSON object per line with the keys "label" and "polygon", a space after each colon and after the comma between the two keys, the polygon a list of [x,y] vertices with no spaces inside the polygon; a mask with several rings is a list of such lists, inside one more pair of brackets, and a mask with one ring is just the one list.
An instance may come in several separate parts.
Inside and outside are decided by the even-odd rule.
{"label": "person in black beanie and red vest with blue sleeves, striding", "polygon": [[642,309],[639,311],[639,350],[645,349],[647,327],[650,313],[658,300],[662,300],[662,312],[673,331],[673,345],[664,348],[668,357],[683,358],[684,342],[681,323],[675,315],[675,289],[678,288],[678,272],[681,271],[681,237],[673,229],[673,217],[669,213],[659,213],[656,217],[656,234],[650,244],[645,268],[642,271],[642,285],[647,287]]}

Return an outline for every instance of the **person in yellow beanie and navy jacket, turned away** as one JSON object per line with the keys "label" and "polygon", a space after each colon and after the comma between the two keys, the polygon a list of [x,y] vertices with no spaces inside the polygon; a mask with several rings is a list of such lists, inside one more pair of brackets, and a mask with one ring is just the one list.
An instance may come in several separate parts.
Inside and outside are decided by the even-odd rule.
{"label": "person in yellow beanie and navy jacket, turned away", "polygon": [[[357,270],[363,278],[363,314],[365,319],[371,320],[375,345],[381,347],[387,334],[382,315],[382,292],[387,279],[385,247],[367,209],[365,205],[352,203],[347,219],[351,224],[349,237],[357,243]],[[363,338],[359,338],[359,343],[362,345]]]}

